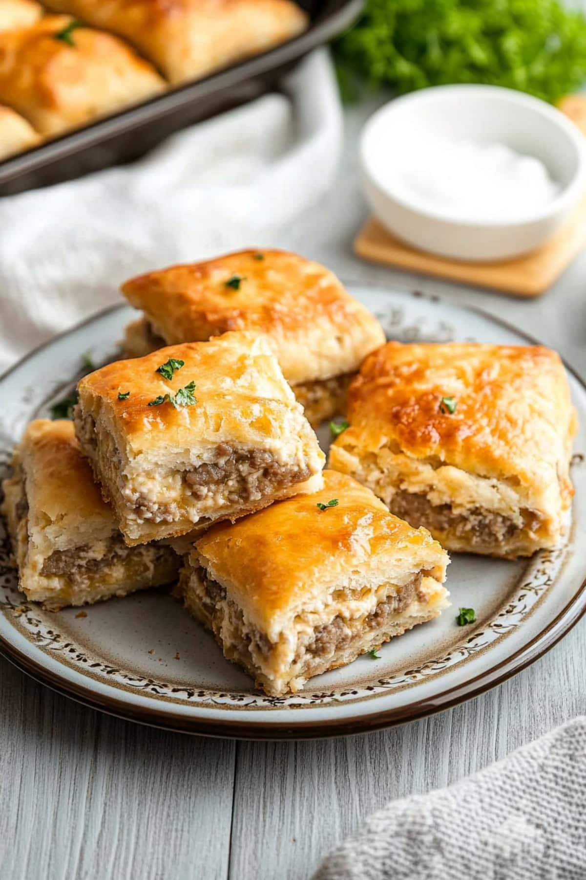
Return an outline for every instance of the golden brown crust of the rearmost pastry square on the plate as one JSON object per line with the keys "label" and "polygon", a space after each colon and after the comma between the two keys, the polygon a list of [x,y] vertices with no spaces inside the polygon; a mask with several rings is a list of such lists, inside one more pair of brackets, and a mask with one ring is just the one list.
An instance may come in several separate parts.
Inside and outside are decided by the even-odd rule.
{"label": "golden brown crust of the rearmost pastry square on the plate", "polygon": [[[235,276],[242,279],[237,290],[226,283]],[[286,251],[172,266],[132,278],[122,292],[169,344],[228,330],[267,334],[292,385],[358,370],[385,341],[377,319],[336,275]]]}

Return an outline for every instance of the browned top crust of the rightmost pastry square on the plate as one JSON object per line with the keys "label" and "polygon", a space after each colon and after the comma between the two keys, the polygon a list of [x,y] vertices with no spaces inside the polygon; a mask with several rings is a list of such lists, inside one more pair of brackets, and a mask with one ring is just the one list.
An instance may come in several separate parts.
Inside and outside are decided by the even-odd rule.
{"label": "browned top crust of the rightmost pastry square on the plate", "polygon": [[[441,411],[453,397],[456,411]],[[336,445],[393,441],[415,458],[531,486],[567,459],[575,412],[560,356],[543,346],[402,345],[369,356],[351,385]],[[562,474],[564,495],[572,488]]]}

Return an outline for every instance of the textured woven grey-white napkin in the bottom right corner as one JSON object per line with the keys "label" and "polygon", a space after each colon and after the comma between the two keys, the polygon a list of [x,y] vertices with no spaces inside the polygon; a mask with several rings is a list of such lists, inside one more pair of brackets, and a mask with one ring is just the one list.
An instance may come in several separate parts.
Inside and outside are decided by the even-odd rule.
{"label": "textured woven grey-white napkin in the bottom right corner", "polygon": [[389,803],[314,880],[586,877],[586,717],[449,788]]}

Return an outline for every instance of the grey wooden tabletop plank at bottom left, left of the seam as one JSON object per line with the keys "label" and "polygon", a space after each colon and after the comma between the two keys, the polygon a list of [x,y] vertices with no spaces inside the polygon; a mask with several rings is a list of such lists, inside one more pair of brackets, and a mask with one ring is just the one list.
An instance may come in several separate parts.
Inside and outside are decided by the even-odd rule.
{"label": "grey wooden tabletop plank at bottom left, left of the seam", "polygon": [[0,876],[228,874],[235,743],[102,715],[0,658]]}

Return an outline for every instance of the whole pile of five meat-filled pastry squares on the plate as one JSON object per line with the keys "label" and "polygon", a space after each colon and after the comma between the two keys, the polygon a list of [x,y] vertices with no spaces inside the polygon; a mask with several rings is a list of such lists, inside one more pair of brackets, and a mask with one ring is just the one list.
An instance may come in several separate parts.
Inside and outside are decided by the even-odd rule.
{"label": "whole pile of five meat-filled pastry squares on the plate", "polygon": [[[28,598],[176,583],[282,694],[437,617],[442,544],[560,540],[575,416],[553,352],[385,344],[335,275],[280,251],[123,291],[131,357],[81,380],[74,424],[29,425],[4,483]],[[344,414],[323,471],[312,425]]]}

